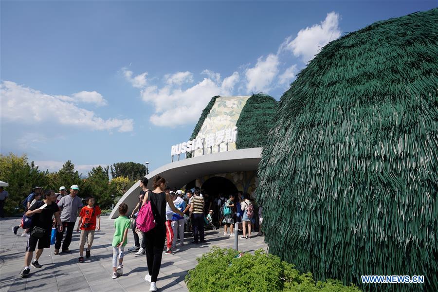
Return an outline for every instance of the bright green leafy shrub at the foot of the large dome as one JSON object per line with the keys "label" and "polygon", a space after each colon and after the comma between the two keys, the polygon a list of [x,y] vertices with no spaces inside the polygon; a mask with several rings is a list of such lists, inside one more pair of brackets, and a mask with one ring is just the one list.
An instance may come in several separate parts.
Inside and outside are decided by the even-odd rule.
{"label": "bright green leafy shrub at the foot of the large dome", "polygon": [[185,277],[189,291],[360,292],[354,285],[343,286],[340,281],[315,282],[312,274],[301,274],[292,264],[262,250],[236,258],[238,254],[214,246],[197,258],[198,265]]}

